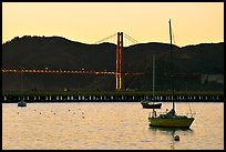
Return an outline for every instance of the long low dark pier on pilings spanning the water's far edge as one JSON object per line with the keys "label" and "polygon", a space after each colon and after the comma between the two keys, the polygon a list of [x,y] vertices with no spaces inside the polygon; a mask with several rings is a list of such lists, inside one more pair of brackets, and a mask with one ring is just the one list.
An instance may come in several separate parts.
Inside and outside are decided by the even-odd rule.
{"label": "long low dark pier on pilings spanning the water's far edge", "polygon": [[21,99],[27,102],[224,102],[224,93],[170,93],[158,92],[153,97],[145,92],[54,92],[54,93],[2,93],[2,103],[17,103]]}

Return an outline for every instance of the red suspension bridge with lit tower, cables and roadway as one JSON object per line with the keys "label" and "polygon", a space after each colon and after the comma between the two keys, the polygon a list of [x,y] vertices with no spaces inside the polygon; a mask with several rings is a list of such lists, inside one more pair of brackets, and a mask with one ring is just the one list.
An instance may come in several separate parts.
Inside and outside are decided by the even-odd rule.
{"label": "red suspension bridge with lit tower, cables and roadway", "polygon": [[[115,53],[115,71],[86,71],[86,70],[50,70],[50,69],[45,69],[45,70],[37,70],[37,69],[2,69],[3,73],[55,73],[55,74],[110,74],[110,75],[114,75],[115,77],[115,90],[123,90],[124,85],[123,85],[123,80],[124,77],[126,75],[142,75],[144,74],[143,72],[124,72],[123,71],[123,44],[124,44],[124,38],[126,38],[129,41],[133,42],[133,43],[137,43],[137,41],[135,39],[133,39],[132,37],[130,37],[126,33],[123,32],[117,32],[114,34],[111,34],[110,37],[106,37],[100,41],[96,41],[95,44],[101,43],[101,42],[105,42],[106,40],[110,40],[114,37],[117,37],[117,43],[116,43],[116,53]],[[164,52],[164,53],[168,53],[168,52]],[[162,53],[163,54],[163,53]],[[160,55],[158,55],[160,57]],[[156,57],[157,58],[157,57]],[[167,75],[168,73],[158,73],[161,75],[165,74]],[[187,77],[188,74],[183,74],[179,73],[177,74],[177,77]],[[199,74],[189,74],[188,77],[199,77]]]}

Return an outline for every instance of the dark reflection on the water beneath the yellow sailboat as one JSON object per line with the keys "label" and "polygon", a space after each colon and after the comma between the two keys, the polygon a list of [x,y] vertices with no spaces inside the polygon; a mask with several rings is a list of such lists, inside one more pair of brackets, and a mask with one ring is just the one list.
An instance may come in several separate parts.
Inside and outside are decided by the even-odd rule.
{"label": "dark reflection on the water beneath the yellow sailboat", "polygon": [[175,136],[183,136],[193,133],[192,129],[187,128],[156,128],[156,126],[148,126],[148,131],[151,134],[157,136],[168,136],[168,144],[172,150],[175,150],[175,144],[179,141],[175,140]]}

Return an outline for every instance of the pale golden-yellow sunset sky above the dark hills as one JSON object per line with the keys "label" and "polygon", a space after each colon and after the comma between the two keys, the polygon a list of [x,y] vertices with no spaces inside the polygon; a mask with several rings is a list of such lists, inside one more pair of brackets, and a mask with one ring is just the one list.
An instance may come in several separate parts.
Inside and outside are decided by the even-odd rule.
{"label": "pale golden-yellow sunset sky above the dark hills", "polygon": [[2,2],[2,43],[22,36],[94,43],[116,32],[170,43],[170,19],[176,45],[224,42],[224,2]]}

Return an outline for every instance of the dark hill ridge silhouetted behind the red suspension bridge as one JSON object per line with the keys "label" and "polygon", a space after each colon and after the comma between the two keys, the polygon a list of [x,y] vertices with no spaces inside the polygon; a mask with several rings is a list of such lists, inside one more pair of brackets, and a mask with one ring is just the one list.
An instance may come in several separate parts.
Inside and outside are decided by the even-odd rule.
{"label": "dark hill ridge silhouetted behind the red suspension bridge", "polygon": [[[140,77],[125,77],[125,89],[152,90],[152,57],[156,55],[156,90],[171,85],[171,45],[167,43],[137,43],[124,47],[123,71],[143,72]],[[14,38],[2,44],[2,68],[115,71],[113,43],[85,44],[61,37]],[[224,75],[224,42],[195,45],[173,45],[175,73],[186,73],[177,79],[176,88],[189,90],[223,90],[224,84],[206,82],[202,75]],[[165,74],[163,74],[165,73]],[[191,74],[199,74],[192,78]],[[114,90],[113,75],[93,74],[31,74],[24,75],[25,88],[38,90]],[[17,74],[2,75],[3,90],[20,90]]]}

